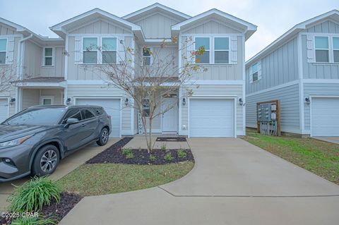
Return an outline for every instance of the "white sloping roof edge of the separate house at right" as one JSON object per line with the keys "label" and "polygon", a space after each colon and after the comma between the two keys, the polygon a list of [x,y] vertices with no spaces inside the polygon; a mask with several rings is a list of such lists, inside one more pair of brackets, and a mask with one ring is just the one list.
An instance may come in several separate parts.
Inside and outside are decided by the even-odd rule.
{"label": "white sloping roof edge of the separate house at right", "polygon": [[269,44],[266,48],[259,51],[256,55],[252,56],[251,59],[247,60],[246,66],[248,66],[251,63],[254,63],[259,58],[266,56],[267,54],[269,54],[274,49],[280,47],[281,44],[283,44],[287,40],[291,39],[292,37],[297,35],[299,32],[307,29],[309,27],[309,25],[312,25],[314,23],[317,23],[321,20],[326,20],[326,19],[332,19],[332,20],[339,21],[339,11],[334,9],[332,11],[328,11],[327,13],[323,13],[323,14],[316,16],[314,18],[311,18],[309,20],[305,20],[302,23],[298,23],[297,25],[295,25],[290,30],[287,30],[287,32],[285,32],[283,35],[278,37],[278,39],[275,39],[275,41],[272,42],[271,44]]}

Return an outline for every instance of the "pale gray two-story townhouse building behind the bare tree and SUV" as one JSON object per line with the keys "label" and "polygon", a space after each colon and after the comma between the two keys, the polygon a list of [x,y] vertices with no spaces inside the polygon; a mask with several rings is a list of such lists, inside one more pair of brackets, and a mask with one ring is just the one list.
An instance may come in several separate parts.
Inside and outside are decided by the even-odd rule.
{"label": "pale gray two-story townhouse building behind the bare tree and SUV", "polygon": [[[194,75],[194,95],[155,118],[152,131],[189,137],[245,134],[245,109],[241,104],[245,102],[244,43],[256,31],[251,23],[217,9],[191,17],[161,4],[122,18],[95,8],[52,26],[59,39],[40,37],[6,20],[0,22],[11,28],[13,35],[20,35],[15,46],[20,42],[22,49],[23,66],[18,78],[23,81],[5,99],[17,99],[16,107],[7,106],[9,115],[35,104],[95,104],[112,116],[112,136],[134,135],[138,132],[138,112],[129,107],[133,101],[123,91],[108,87],[104,74],[94,70],[102,63],[101,53],[83,49],[91,44],[115,43],[107,54],[119,63],[124,57],[121,40],[126,47],[142,49],[145,45],[158,48],[164,39],[179,37],[177,44],[167,47],[177,54],[177,67],[185,63],[182,54],[203,45],[206,52],[200,63],[208,70]],[[186,38],[194,39],[195,44],[183,49]],[[138,68],[135,71],[137,76]],[[184,87],[168,97],[168,103],[183,96]]]}

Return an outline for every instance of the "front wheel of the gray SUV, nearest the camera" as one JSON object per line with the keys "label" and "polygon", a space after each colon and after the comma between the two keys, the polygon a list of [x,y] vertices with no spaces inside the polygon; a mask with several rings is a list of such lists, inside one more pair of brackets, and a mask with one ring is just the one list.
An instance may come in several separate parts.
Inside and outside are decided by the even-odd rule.
{"label": "front wheel of the gray SUV, nearest the camera", "polygon": [[59,150],[54,145],[45,145],[35,155],[32,164],[33,176],[45,176],[52,174],[59,164]]}

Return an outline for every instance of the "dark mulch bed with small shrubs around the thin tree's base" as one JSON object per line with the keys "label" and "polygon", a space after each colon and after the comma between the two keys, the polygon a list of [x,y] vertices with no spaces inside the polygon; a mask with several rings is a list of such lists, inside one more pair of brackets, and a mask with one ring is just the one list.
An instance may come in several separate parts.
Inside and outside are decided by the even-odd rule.
{"label": "dark mulch bed with small shrubs around the thin tree's base", "polygon": [[[184,150],[186,152],[186,157],[180,158],[178,156],[178,150],[152,150],[152,155],[155,157],[155,160],[150,160],[150,154],[147,150],[137,150],[133,149],[131,152],[133,153],[133,158],[126,159],[126,156],[122,154],[121,148],[112,148],[109,147],[108,150],[105,150],[105,154],[101,154],[100,158],[95,157],[90,160],[90,164],[95,163],[116,163],[116,164],[138,164],[138,165],[161,165],[161,164],[169,164],[174,162],[184,162],[184,161],[194,161],[193,154],[191,150]],[[103,152],[102,152],[103,153]],[[168,153],[171,153],[173,159],[166,160],[165,157]]]}

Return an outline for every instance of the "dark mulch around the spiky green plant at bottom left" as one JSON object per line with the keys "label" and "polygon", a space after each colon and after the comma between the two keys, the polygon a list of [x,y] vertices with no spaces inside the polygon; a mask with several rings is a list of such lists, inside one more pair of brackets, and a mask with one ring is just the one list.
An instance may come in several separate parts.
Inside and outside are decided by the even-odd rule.
{"label": "dark mulch around the spiky green plant at bottom left", "polygon": [[[83,198],[81,195],[77,195],[75,193],[61,193],[60,194],[60,202],[57,203],[55,200],[52,200],[50,205],[45,205],[42,207],[42,214],[43,217],[52,217],[57,221],[61,221],[62,218],[66,216],[66,214],[73,209],[73,207],[80,202]],[[11,224],[11,218],[3,218],[0,217],[0,224]]]}

